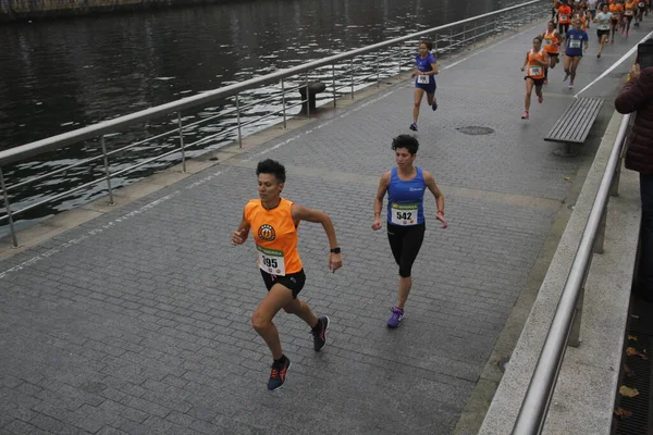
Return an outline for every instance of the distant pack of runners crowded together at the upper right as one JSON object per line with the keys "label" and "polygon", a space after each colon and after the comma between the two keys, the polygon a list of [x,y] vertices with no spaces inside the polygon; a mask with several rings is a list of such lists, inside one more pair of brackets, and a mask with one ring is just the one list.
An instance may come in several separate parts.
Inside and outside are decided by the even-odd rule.
{"label": "distant pack of runners crowded together at the upper right", "polygon": [[521,119],[530,117],[533,88],[538,102],[544,100],[542,87],[547,84],[549,71],[559,63],[560,55],[565,57],[563,82],[569,79],[567,87],[574,89],[578,66],[590,45],[587,30],[591,23],[596,24],[596,59],[601,59],[607,40],[614,44],[615,34],[618,32],[628,38],[630,23],[636,20],[634,25],[639,26],[649,14],[650,8],[651,0],[572,0],[572,5],[568,0],[554,0],[552,20],[544,33],[533,38],[533,46],[526,53],[521,65],[521,71],[526,71],[526,96]]}

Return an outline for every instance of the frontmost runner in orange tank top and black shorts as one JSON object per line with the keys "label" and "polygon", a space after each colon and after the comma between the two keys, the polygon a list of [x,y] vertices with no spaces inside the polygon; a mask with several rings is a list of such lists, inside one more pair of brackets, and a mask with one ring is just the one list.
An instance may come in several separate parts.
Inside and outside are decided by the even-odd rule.
{"label": "frontmost runner in orange tank top and black shorts", "polygon": [[268,295],[254,311],[251,325],[272,352],[272,372],[268,389],[273,390],[283,385],[286,372],[291,368],[291,360],[283,355],[279,332],[272,323],[272,319],[281,309],[297,315],[311,327],[316,351],[321,350],[326,343],[329,318],[316,318],[310,307],[297,298],[306,281],[297,251],[299,222],[322,224],[331,246],[331,271],[340,269],[343,260],[331,217],[321,211],[310,210],[281,198],[285,184],[285,167],[281,163],[270,159],[263,160],[259,162],[256,174],[260,199],[252,199],[245,206],[241,225],[232,233],[232,244],[243,245],[249,231],[254,228],[258,266],[268,287]]}

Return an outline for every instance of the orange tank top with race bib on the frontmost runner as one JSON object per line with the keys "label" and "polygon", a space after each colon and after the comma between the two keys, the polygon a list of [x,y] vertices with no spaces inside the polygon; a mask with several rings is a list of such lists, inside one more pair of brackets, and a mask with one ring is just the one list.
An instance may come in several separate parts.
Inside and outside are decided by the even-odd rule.
{"label": "orange tank top with race bib on the frontmost runner", "polygon": [[292,208],[293,202],[284,198],[272,210],[266,210],[260,199],[252,199],[245,206],[245,220],[251,226],[258,266],[271,275],[284,276],[303,268]]}

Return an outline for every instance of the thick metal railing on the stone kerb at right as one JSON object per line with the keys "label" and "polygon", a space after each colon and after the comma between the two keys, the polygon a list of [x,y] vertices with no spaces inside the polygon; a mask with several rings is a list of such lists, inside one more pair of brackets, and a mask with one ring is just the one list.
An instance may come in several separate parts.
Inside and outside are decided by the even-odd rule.
{"label": "thick metal railing on the stone kerb at right", "polygon": [[534,435],[542,432],[565,357],[565,350],[567,346],[577,347],[580,343],[579,333],[584,283],[593,254],[603,253],[607,203],[611,196],[618,196],[623,149],[629,130],[630,119],[630,115],[625,115],[621,120],[617,138],[576,251],[551,328],[521,402],[521,409],[513,426],[514,435]]}

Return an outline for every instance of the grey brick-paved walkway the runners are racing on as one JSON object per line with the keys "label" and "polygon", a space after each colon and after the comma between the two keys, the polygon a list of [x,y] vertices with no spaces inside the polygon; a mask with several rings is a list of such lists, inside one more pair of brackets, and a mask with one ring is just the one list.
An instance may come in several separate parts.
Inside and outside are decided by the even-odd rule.
{"label": "grey brick-paved walkway the runners are racing on", "polygon": [[[370,225],[391,138],[409,133],[408,82],[0,262],[0,433],[449,433],[565,207],[565,178],[591,159],[557,158],[542,139],[571,101],[560,67],[519,120],[534,33],[443,63],[440,109],[423,110],[417,136],[449,228],[427,224],[399,330],[384,326],[396,266]],[[627,48],[590,51],[577,89]],[[588,95],[611,95],[627,70]],[[230,244],[263,157],[287,165],[287,198],[333,216],[344,252],[329,273],[321,227],[303,224],[301,295],[332,326],[315,353],[307,327],[279,315],[294,364],[275,393],[250,326],[264,294],[255,251]]]}

